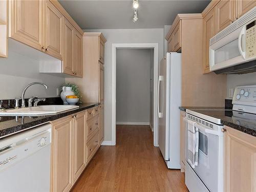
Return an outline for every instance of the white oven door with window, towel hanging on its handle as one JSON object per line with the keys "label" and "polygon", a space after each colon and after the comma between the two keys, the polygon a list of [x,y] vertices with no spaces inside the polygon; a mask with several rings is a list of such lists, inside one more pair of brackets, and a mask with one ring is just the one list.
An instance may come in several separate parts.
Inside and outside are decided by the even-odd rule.
{"label": "white oven door with window, towel hanging on its handle", "polygon": [[[223,191],[223,136],[209,127],[196,124],[199,129],[198,166],[192,168],[209,191]],[[187,130],[186,130],[187,140]],[[186,161],[188,162],[186,145]],[[189,163],[188,163],[189,164]]]}

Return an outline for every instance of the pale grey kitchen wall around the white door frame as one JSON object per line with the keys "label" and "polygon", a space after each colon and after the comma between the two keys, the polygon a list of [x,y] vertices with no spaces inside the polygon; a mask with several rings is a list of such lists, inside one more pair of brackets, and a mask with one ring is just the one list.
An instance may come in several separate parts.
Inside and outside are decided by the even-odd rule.
{"label": "pale grey kitchen wall around the white door frame", "polygon": [[85,30],[86,32],[102,32],[106,38],[105,43],[105,116],[104,140],[111,141],[111,61],[112,44],[117,43],[158,43],[159,62],[163,57],[164,37],[163,29],[98,29]]}

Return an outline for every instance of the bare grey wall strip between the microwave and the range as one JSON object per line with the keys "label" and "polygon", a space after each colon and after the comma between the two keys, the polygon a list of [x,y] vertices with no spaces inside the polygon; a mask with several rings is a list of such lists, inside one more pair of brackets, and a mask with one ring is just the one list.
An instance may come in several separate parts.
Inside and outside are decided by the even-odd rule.
{"label": "bare grey wall strip between the microwave and the range", "polygon": [[248,84],[256,84],[256,73],[248,73],[242,75],[227,75],[227,98],[229,97],[229,89],[236,88],[236,86],[244,86]]}

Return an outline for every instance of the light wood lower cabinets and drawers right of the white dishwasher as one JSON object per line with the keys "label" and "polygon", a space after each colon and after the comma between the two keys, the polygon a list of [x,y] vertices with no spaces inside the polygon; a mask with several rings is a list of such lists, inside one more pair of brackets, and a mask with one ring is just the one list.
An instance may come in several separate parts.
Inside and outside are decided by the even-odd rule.
{"label": "light wood lower cabinets and drawers right of the white dishwasher", "polygon": [[[100,143],[96,110],[98,106],[52,121],[51,191],[70,191],[97,152]],[[92,133],[90,122],[97,127]]]}

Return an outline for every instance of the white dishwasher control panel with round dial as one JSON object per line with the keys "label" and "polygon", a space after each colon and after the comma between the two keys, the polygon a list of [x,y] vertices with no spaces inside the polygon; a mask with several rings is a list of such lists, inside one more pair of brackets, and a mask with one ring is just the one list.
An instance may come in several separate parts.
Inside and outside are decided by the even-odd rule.
{"label": "white dishwasher control panel with round dial", "polygon": [[14,142],[1,146],[0,171],[51,144],[51,129],[26,136],[25,138],[16,136],[17,139],[13,136],[9,139]]}

